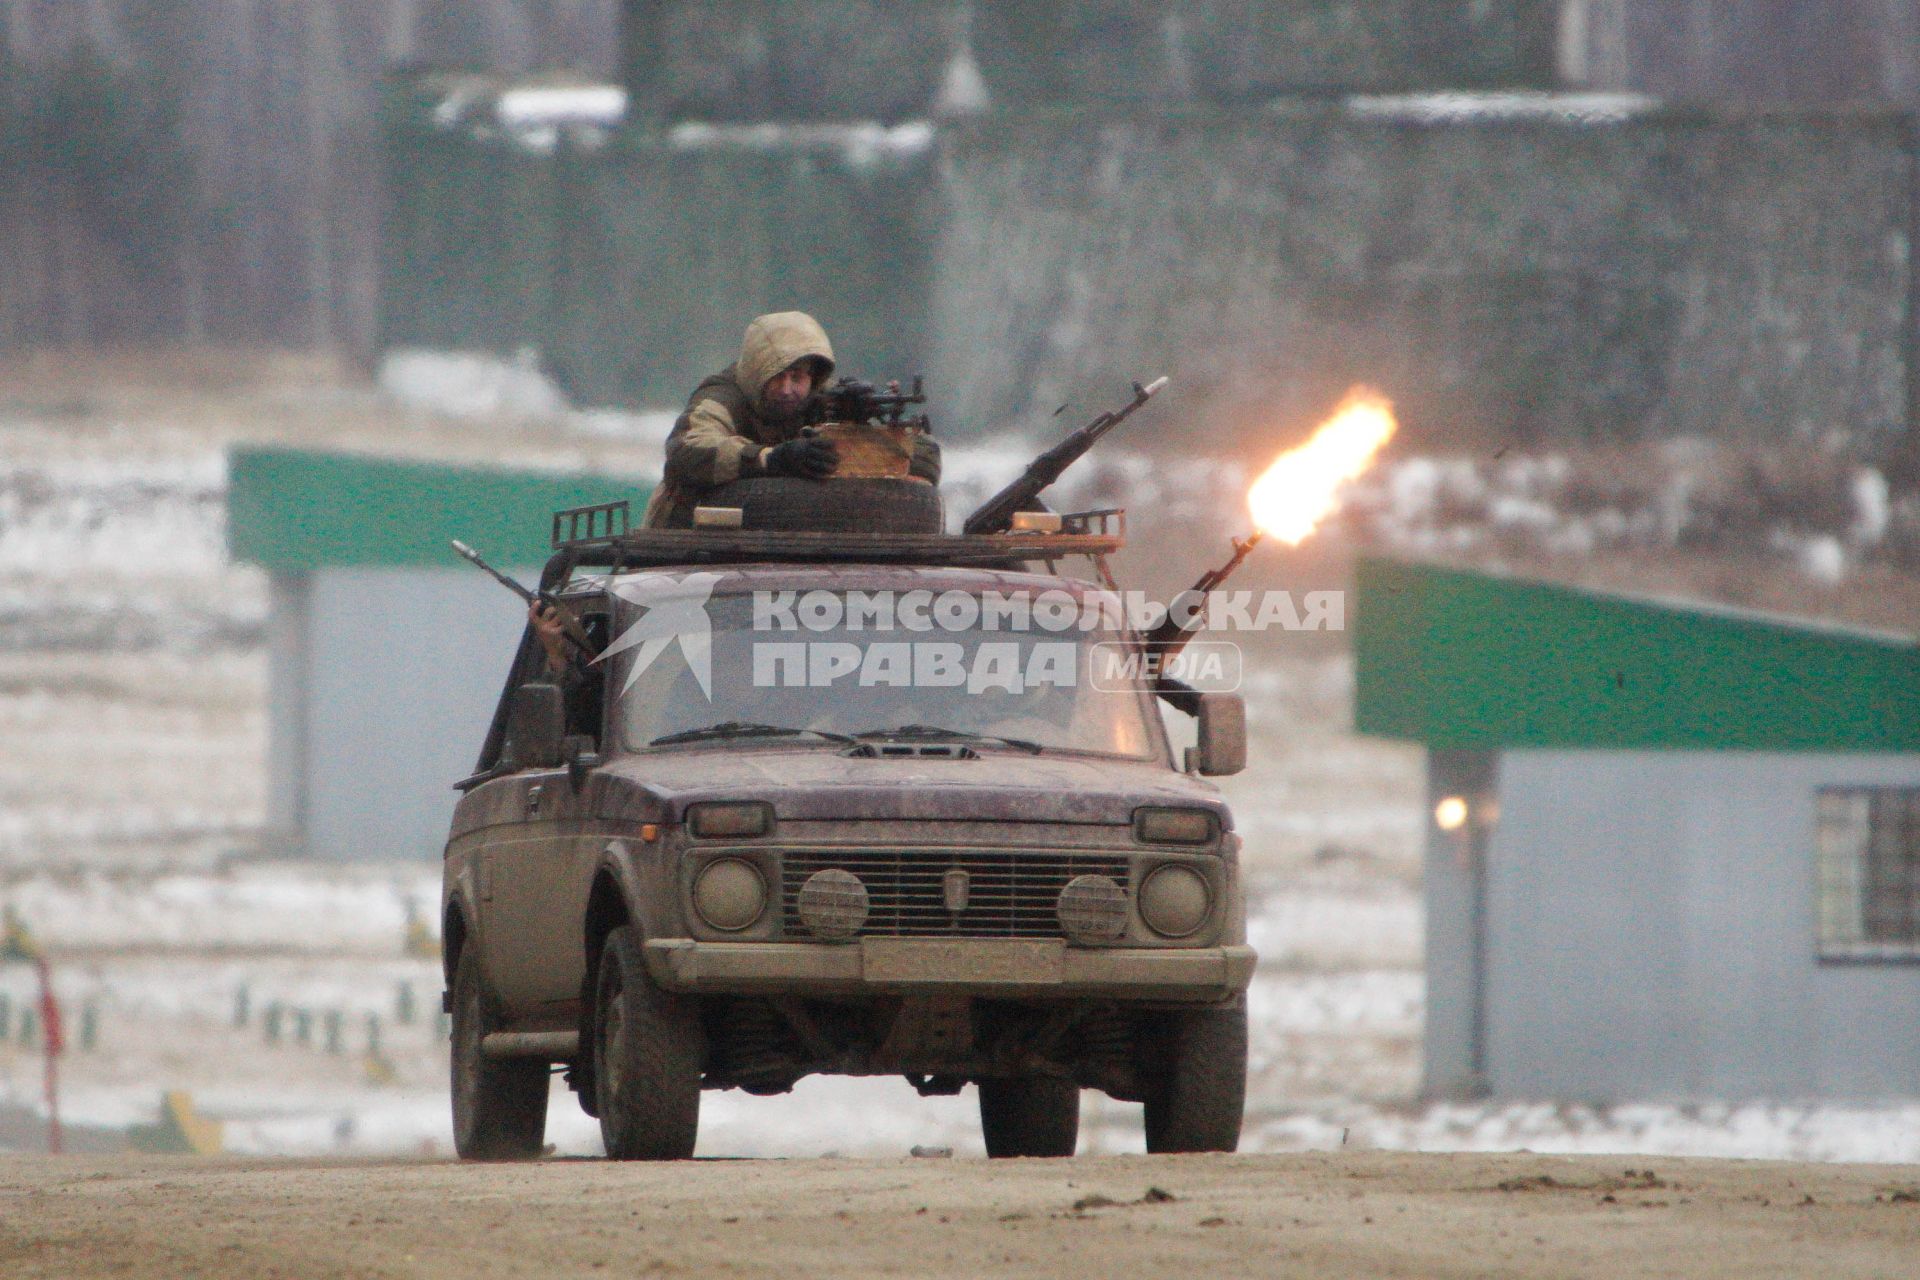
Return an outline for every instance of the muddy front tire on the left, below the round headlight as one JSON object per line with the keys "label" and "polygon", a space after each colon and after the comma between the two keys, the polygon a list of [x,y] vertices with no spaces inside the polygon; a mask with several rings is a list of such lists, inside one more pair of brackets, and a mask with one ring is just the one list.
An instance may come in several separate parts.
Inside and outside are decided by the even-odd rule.
{"label": "muddy front tire on the left, below the round headlight", "polygon": [[701,1126],[699,1007],[647,975],[626,925],[593,988],[593,1086],[609,1159],[687,1159]]}

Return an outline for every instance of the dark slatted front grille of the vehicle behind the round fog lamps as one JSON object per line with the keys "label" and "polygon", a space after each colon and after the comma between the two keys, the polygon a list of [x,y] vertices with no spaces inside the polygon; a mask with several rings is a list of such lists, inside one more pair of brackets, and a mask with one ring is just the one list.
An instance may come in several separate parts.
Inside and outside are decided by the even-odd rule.
{"label": "dark slatted front grille of the vehicle behind the round fog lamps", "polygon": [[[806,877],[828,867],[866,885],[862,935],[899,938],[1058,938],[1054,906],[1075,875],[1108,875],[1127,885],[1127,856],[1106,852],[983,850],[801,850],[783,854],[781,921],[787,936],[806,936],[799,896]],[[966,908],[947,910],[947,873],[966,871]],[[1131,889],[1129,889],[1131,894]]]}

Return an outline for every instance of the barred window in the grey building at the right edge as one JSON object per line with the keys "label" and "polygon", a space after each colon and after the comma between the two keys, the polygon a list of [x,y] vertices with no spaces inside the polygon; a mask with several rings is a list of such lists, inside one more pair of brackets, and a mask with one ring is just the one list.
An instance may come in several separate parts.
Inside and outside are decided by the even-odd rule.
{"label": "barred window in the grey building at the right edge", "polygon": [[1820,956],[1920,956],[1920,789],[1822,787]]}

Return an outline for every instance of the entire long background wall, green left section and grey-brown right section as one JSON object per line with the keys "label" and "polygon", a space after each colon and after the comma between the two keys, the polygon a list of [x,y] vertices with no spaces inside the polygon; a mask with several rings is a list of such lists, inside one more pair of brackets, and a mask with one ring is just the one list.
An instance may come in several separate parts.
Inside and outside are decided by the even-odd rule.
{"label": "entire long background wall, green left section and grey-brown right section", "polygon": [[[390,98],[386,342],[536,347],[588,403],[678,403],[804,305],[941,430],[1052,430],[1169,374],[1267,453],[1365,382],[1419,449],[1705,436],[1882,462],[1920,390],[1914,130],[1596,96],[1373,96],[933,127],[522,138]],[[588,144],[588,136],[593,144]]]}

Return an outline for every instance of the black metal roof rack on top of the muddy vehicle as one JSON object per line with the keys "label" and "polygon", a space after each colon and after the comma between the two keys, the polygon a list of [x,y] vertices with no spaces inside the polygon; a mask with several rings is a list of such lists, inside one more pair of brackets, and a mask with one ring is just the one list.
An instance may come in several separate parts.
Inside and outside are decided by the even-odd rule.
{"label": "black metal roof rack on top of the muddy vehicle", "polygon": [[[1127,541],[1127,512],[1117,509],[1064,514],[1058,533],[630,530],[626,520],[626,503],[601,503],[555,512],[553,549],[563,553],[572,566],[618,572],[668,564],[764,560],[1002,566],[1066,557],[1098,558],[1119,551]],[[614,528],[618,532],[612,532]],[[563,530],[566,537],[561,537]]]}

